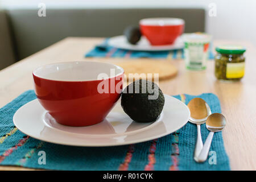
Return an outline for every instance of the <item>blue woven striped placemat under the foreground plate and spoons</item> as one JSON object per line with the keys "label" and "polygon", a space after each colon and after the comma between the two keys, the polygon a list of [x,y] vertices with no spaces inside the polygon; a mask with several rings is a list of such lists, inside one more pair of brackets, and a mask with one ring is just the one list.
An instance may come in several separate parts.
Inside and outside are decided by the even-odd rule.
{"label": "blue woven striped placemat under the foreground plate and spoons", "polygon": [[[175,96],[188,104],[194,97],[208,102],[213,113],[220,113],[217,96],[212,93]],[[0,165],[59,170],[229,170],[221,132],[214,134],[207,162],[196,163],[193,151],[196,125],[183,128],[148,142],[116,147],[72,147],[42,142],[21,133],[13,124],[13,115],[19,107],[36,98],[28,90],[0,109]],[[203,141],[209,131],[201,125]],[[42,151],[44,154],[42,154]],[[46,164],[41,156],[46,156]],[[216,160],[212,159],[213,155]],[[210,161],[210,162],[209,162]],[[214,164],[214,161],[216,164]]]}

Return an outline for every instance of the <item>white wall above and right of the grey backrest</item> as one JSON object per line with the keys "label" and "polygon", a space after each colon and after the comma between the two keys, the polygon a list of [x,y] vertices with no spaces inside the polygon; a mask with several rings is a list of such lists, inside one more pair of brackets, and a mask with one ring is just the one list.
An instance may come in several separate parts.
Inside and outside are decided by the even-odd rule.
{"label": "white wall above and right of the grey backrest", "polygon": [[[256,45],[255,0],[0,0],[6,9],[37,9],[43,2],[47,8],[168,8],[203,7],[207,10],[207,32],[215,39],[247,40]],[[209,16],[209,4],[215,3],[217,14]]]}

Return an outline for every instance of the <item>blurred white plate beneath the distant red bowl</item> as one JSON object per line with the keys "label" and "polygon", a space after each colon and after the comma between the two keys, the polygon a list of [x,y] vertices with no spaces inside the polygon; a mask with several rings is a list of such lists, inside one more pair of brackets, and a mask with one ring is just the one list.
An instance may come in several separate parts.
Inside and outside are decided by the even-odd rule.
{"label": "blurred white plate beneath the distant red bowl", "polygon": [[168,51],[174,49],[182,49],[184,47],[184,42],[181,37],[175,40],[174,44],[164,45],[164,46],[151,46],[150,42],[148,42],[147,38],[144,36],[141,37],[141,40],[135,45],[127,42],[126,37],[124,35],[114,36],[108,40],[109,46],[113,46],[115,48],[127,49],[131,51]]}

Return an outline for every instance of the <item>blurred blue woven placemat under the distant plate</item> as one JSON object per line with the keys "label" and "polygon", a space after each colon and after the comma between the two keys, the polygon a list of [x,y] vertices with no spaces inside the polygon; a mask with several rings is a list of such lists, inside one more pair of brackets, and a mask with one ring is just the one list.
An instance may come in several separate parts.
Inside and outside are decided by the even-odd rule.
{"label": "blurred blue woven placemat under the distant plate", "polygon": [[[172,51],[129,51],[107,46],[108,39],[104,40],[105,49],[96,46],[89,52],[85,53],[85,57],[127,57],[127,58],[156,58],[156,59],[184,59],[184,50],[177,49]],[[212,44],[209,47],[209,59],[213,59]]]}

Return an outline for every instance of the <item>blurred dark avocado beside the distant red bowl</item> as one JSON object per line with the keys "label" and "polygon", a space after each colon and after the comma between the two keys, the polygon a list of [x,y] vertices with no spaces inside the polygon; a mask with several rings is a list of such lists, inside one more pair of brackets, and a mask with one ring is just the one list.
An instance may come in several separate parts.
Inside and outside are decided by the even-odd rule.
{"label": "blurred dark avocado beside the distant red bowl", "polygon": [[125,34],[127,41],[131,44],[136,44],[141,39],[141,31],[136,26],[125,28],[123,34]]}

